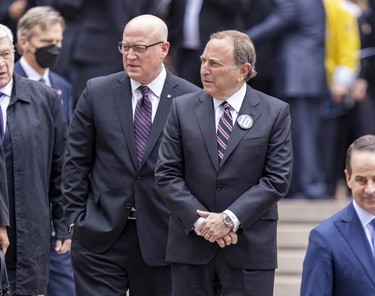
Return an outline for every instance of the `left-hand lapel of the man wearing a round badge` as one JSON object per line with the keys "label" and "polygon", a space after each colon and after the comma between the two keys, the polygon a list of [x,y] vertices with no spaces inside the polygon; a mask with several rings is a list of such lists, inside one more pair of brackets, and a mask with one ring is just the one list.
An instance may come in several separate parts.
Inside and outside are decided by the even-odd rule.
{"label": "left-hand lapel of the man wearing a round badge", "polygon": [[195,118],[198,122],[203,141],[206,145],[208,154],[216,170],[219,170],[219,159],[217,154],[215,111],[212,97],[201,93],[198,98],[199,103],[194,108]]}

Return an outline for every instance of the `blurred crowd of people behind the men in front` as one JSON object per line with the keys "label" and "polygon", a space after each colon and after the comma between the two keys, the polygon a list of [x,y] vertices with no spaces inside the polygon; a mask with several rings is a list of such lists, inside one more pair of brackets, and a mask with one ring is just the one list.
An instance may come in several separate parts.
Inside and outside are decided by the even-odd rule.
{"label": "blurred crowd of people behind the men in front", "polygon": [[292,106],[295,164],[288,196],[320,199],[337,195],[348,143],[375,133],[375,1],[308,2],[3,0],[0,23],[15,32],[19,18],[37,5],[62,14],[66,28],[54,70],[72,83],[73,105],[88,79],[122,70],[116,43],[136,15],[167,22],[166,65],[198,86],[199,57],[210,34],[247,32],[258,56],[250,85]]}

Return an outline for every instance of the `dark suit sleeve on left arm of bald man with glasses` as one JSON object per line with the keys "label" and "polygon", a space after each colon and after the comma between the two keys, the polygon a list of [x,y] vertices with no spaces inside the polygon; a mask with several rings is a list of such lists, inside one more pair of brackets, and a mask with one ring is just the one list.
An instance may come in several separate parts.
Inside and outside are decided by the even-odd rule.
{"label": "dark suit sleeve on left arm of bald man with glasses", "polygon": [[69,127],[63,168],[65,219],[68,225],[85,212],[95,146],[95,127],[86,88],[76,106]]}

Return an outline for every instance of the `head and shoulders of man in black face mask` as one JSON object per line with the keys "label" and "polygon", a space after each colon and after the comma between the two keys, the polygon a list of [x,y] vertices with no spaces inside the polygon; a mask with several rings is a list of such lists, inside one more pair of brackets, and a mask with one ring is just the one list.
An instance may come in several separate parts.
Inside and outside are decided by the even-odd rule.
{"label": "head and shoulders of man in black face mask", "polygon": [[60,54],[64,29],[64,19],[53,8],[37,6],[29,9],[17,26],[18,49],[22,56],[15,64],[14,71],[54,88],[61,98],[69,123],[73,113],[72,86],[50,70]]}

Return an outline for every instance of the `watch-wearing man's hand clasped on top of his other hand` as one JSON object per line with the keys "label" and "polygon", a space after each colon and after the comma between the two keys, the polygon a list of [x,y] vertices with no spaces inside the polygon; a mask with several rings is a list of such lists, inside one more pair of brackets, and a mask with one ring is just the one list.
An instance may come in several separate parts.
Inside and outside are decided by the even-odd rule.
{"label": "watch-wearing man's hand clasped on top of his other hand", "polygon": [[[202,236],[213,243],[220,238],[223,238],[230,232],[230,228],[224,224],[222,213],[213,213],[197,210],[199,216],[205,218],[205,220],[199,225],[199,231]],[[228,237],[226,237],[229,240]],[[220,241],[222,244],[225,242]],[[220,244],[219,244],[220,245]]]}

